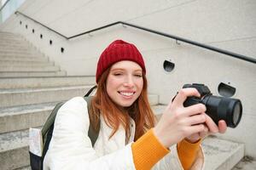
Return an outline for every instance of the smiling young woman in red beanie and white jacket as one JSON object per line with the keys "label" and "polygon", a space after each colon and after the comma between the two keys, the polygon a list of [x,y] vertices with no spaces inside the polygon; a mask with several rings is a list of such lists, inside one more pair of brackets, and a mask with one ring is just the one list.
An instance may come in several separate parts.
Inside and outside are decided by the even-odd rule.
{"label": "smiling young woman in red beanie and white jacket", "polygon": [[[96,82],[93,115],[82,97],[58,111],[44,169],[202,169],[201,139],[227,128],[205,114],[205,105],[183,107],[188,96],[200,96],[195,88],[181,89],[155,122],[143,56],[129,42],[116,40],[102,52]],[[94,147],[90,123],[100,124]]]}

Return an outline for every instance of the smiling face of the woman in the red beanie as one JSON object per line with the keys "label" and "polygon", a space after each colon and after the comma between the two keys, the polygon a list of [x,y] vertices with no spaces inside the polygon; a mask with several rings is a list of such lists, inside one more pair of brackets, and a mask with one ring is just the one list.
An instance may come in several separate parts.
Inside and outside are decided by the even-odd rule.
{"label": "smiling face of the woman in the red beanie", "polygon": [[143,90],[143,70],[136,62],[124,60],[111,66],[107,93],[117,105],[128,107]]}

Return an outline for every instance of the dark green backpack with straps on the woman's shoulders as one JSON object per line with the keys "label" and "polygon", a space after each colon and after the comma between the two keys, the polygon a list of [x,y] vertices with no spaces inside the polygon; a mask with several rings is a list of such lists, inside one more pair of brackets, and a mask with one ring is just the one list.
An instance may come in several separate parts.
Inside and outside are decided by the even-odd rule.
{"label": "dark green backpack with straps on the woman's shoulders", "polygon": [[[90,108],[90,99],[91,99],[92,96],[89,96],[89,95],[94,90],[94,88],[96,88],[96,86],[94,86],[93,88],[90,88],[88,93],[84,95],[84,100],[87,102],[87,109],[88,109],[89,114],[92,114],[92,113],[90,113],[90,110],[89,110],[89,108]],[[54,124],[55,124],[55,116],[56,116],[57,112],[59,111],[59,109],[61,108],[61,105],[63,105],[63,104],[65,104],[65,102],[60,102],[57,105],[55,105],[55,108],[49,114],[49,117],[47,118],[46,122],[44,123],[44,127],[40,131],[40,137],[41,138],[36,138],[36,140],[42,140],[43,139],[42,156],[38,156],[38,155],[32,153],[31,150],[29,150],[30,166],[31,166],[32,170],[43,170],[44,156],[46,155],[46,153],[48,151],[49,142],[52,138],[52,133],[53,133]],[[100,125],[100,123],[99,123],[99,125]],[[97,128],[97,129],[99,129],[99,128]],[[99,131],[95,131],[90,125],[89,126],[89,131],[88,131],[88,136],[90,138],[92,146],[94,146],[94,144],[96,143],[96,139],[98,138],[98,135],[99,135]],[[30,138],[31,138],[31,136],[30,136]],[[35,139],[33,139],[33,140],[35,140]],[[38,144],[39,143],[40,142],[38,142]]]}

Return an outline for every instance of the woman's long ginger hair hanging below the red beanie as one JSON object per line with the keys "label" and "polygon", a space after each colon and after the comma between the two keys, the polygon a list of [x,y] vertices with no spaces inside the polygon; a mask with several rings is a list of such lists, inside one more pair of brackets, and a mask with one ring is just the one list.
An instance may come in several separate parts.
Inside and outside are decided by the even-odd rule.
{"label": "woman's long ginger hair hanging below the red beanie", "polygon": [[[139,139],[149,128],[154,127],[155,117],[148,102],[148,82],[143,73],[143,90],[138,99],[130,107],[120,107],[115,104],[107,93],[107,78],[110,71],[104,71],[98,81],[95,97],[91,100],[90,115],[91,125],[94,129],[99,127],[100,115],[108,127],[113,129],[109,139],[113,137],[119,126],[125,128],[125,141],[131,137],[130,117],[136,124],[135,141]],[[99,129],[96,129],[99,130]]]}

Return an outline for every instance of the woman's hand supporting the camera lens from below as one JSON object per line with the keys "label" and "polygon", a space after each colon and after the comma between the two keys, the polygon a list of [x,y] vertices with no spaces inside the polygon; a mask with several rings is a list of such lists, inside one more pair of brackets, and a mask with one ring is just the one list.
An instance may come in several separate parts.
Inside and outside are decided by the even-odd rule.
{"label": "woman's hand supporting the camera lens from below", "polygon": [[218,126],[215,122],[212,121],[210,116],[207,116],[206,113],[203,113],[206,116],[206,122],[204,124],[205,128],[200,133],[194,133],[186,138],[190,143],[195,143],[199,139],[205,138],[207,135],[212,133],[225,133],[227,130],[227,124],[224,120],[218,122]]}

